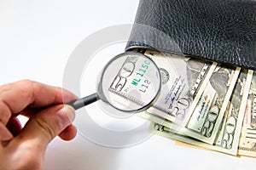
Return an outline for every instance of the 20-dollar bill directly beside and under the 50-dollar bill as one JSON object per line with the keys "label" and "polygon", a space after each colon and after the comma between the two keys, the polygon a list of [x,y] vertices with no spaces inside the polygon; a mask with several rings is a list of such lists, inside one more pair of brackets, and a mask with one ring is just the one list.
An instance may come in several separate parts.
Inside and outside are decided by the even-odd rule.
{"label": "20-dollar bill directly beside and under the 50-dollar bill", "polygon": [[[218,65],[198,99],[186,129],[187,136],[213,144],[241,68]],[[198,94],[199,95],[199,94]]]}

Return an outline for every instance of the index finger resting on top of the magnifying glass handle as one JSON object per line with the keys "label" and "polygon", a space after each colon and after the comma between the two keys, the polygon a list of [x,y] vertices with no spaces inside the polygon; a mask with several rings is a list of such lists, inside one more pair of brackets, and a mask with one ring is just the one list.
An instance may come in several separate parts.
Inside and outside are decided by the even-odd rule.
{"label": "index finger resting on top of the magnifying glass handle", "polygon": [[62,88],[23,80],[0,86],[0,121],[6,124],[12,114],[27,106],[46,107],[66,103],[77,97]]}

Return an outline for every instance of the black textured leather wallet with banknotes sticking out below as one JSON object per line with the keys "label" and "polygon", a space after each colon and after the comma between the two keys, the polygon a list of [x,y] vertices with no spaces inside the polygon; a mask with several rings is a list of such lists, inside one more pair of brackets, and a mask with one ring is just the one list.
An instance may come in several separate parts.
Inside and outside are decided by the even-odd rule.
{"label": "black textured leather wallet with banknotes sticking out below", "polygon": [[164,32],[178,48],[135,26],[126,50],[153,47],[256,70],[256,0],[141,0],[135,24]]}

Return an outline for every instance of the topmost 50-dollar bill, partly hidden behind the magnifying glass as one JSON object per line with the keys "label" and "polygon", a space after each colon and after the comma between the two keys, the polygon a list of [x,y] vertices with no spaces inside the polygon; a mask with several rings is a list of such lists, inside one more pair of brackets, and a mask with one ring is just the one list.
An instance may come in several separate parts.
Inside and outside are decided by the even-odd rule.
{"label": "topmost 50-dollar bill, partly hidden behind the magnifying glass", "polygon": [[210,77],[217,64],[155,50],[137,51],[154,60],[162,80],[160,96],[147,112],[179,125],[186,124],[198,89],[206,86],[207,83],[202,82]]}

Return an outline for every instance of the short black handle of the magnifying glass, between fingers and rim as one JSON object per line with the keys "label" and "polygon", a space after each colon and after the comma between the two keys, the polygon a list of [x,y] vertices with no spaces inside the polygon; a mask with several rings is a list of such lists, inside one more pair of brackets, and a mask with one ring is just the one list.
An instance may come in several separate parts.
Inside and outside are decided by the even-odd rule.
{"label": "short black handle of the magnifying glass, between fingers and rim", "polygon": [[71,102],[68,102],[67,105],[71,105],[75,110],[78,110],[84,107],[85,105],[90,105],[91,103],[96,102],[96,100],[98,99],[99,98],[97,94],[90,94],[89,96],[86,96],[84,98],[75,99]]}

